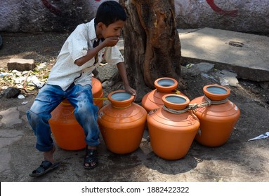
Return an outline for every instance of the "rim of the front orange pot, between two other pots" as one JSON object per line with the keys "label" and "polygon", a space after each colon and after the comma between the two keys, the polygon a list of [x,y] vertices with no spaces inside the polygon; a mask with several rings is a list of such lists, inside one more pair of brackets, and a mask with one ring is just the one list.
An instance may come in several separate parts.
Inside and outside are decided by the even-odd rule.
{"label": "rim of the front orange pot, between two other pots", "polygon": [[162,97],[164,105],[169,109],[183,110],[188,104],[190,104],[190,99],[179,94],[166,94]]}

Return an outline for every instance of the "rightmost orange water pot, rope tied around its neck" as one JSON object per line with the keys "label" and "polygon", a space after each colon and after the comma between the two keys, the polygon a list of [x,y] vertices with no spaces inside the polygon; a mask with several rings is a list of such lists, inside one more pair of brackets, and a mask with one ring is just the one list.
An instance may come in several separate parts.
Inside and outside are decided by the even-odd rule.
{"label": "rightmost orange water pot, rope tied around its neck", "polygon": [[230,90],[221,85],[206,85],[204,96],[193,99],[190,104],[211,102],[199,107],[195,115],[200,121],[200,130],[195,140],[204,146],[216,147],[225,144],[240,118],[240,109],[228,100]]}

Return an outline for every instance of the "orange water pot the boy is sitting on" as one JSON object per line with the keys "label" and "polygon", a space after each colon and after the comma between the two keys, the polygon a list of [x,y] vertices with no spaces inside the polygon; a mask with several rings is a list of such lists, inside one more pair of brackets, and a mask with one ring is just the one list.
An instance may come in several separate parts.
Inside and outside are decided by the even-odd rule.
{"label": "orange water pot the boy is sitting on", "polygon": [[[96,78],[92,78],[93,98],[103,97],[102,83]],[[103,106],[103,99],[93,99],[93,103],[99,107]],[[52,112],[48,121],[56,144],[67,151],[78,151],[86,146],[85,134],[82,127],[74,117],[74,107],[63,100]]]}

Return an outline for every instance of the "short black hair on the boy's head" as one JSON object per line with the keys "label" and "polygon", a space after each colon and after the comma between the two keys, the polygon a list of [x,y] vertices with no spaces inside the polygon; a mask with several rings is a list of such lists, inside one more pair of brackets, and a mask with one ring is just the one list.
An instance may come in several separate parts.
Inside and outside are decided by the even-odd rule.
{"label": "short black hair on the boy's head", "polygon": [[104,1],[100,4],[96,12],[95,25],[103,22],[108,26],[118,20],[126,21],[124,8],[117,1]]}

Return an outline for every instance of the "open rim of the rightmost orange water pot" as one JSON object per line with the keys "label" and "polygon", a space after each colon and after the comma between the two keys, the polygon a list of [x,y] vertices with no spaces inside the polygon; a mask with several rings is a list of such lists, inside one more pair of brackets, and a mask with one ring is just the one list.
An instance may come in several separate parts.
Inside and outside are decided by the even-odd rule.
{"label": "open rim of the rightmost orange water pot", "polygon": [[212,101],[223,100],[230,95],[230,90],[222,85],[205,85],[203,92],[206,97],[209,97]]}

